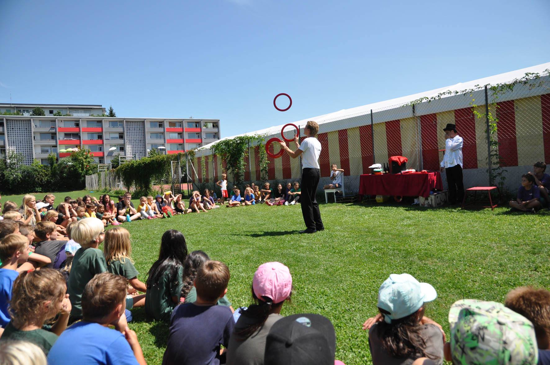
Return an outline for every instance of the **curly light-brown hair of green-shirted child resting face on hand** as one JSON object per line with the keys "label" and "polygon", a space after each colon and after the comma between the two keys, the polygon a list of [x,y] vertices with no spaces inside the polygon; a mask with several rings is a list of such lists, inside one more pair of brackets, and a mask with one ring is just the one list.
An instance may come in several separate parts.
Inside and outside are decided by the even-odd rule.
{"label": "curly light-brown hair of green-shirted child resting face on hand", "polygon": [[13,283],[12,300],[8,309],[14,327],[21,329],[36,320],[37,315],[40,316],[36,313],[37,310],[46,301],[51,301],[50,311],[43,314],[43,319],[55,317],[56,303],[63,300],[65,292],[65,279],[57,270],[41,268],[20,273]]}

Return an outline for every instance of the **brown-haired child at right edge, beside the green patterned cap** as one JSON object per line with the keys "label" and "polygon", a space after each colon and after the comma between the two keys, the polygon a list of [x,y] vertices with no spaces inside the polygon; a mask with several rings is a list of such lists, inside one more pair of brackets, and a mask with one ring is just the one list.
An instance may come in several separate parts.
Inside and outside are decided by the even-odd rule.
{"label": "brown-haired child at right edge, beside the green patterned cap", "polygon": [[537,338],[538,364],[550,364],[550,291],[516,287],[506,296],[504,306],[531,321]]}

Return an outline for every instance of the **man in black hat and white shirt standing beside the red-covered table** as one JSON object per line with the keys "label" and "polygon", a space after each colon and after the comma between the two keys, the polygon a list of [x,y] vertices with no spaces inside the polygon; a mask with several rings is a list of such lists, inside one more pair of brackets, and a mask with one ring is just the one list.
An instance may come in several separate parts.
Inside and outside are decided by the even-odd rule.
{"label": "man in black hat and white shirt standing beside the red-covered table", "polygon": [[447,124],[445,132],[445,154],[441,161],[441,172],[447,173],[449,185],[449,203],[461,203],[464,197],[464,183],[462,181],[462,145],[463,140],[456,134],[456,126]]}

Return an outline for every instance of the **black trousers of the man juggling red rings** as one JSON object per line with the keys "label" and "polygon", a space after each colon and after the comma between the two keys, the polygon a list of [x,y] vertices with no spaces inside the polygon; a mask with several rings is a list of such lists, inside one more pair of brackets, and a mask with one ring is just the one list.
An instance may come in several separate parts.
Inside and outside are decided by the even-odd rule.
{"label": "black trousers of the man juggling red rings", "polygon": [[319,212],[319,204],[315,197],[320,179],[321,172],[319,169],[305,168],[302,170],[300,203],[307,229],[324,228],[323,221],[321,220],[321,213]]}

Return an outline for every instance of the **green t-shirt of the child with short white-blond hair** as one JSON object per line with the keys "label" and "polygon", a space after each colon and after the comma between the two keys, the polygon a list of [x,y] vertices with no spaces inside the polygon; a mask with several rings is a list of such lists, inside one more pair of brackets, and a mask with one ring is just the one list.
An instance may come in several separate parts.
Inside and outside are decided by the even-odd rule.
{"label": "green t-shirt of the child with short white-blond hair", "polygon": [[82,317],[81,298],[84,287],[96,274],[106,271],[107,263],[101,250],[81,247],[76,251],[67,282],[67,294],[69,294],[69,300],[73,306],[70,311],[71,316]]}

